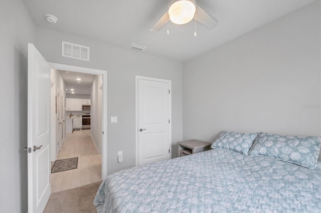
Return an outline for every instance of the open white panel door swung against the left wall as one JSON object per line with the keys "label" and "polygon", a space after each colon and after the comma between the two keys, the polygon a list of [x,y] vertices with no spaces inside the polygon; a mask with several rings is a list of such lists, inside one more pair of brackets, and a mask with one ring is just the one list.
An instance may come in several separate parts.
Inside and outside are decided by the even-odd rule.
{"label": "open white panel door swung against the left wall", "polygon": [[28,44],[28,212],[43,212],[48,202],[50,175],[50,66]]}

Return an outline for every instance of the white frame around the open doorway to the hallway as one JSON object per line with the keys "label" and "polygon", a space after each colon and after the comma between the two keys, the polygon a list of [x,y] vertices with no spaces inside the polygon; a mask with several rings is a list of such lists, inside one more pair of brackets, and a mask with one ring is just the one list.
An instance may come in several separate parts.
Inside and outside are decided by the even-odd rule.
{"label": "white frame around the open doorway to the hallway", "polygon": [[61,63],[48,62],[52,69],[76,71],[102,76],[102,140],[101,140],[101,178],[107,176],[107,70],[73,66]]}

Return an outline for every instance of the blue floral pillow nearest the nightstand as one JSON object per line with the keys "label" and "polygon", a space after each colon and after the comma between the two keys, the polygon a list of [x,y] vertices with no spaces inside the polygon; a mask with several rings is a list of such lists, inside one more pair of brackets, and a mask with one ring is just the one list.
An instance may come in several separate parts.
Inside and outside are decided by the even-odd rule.
{"label": "blue floral pillow nearest the nightstand", "polygon": [[212,143],[211,148],[224,148],[247,154],[257,135],[258,133],[222,131]]}

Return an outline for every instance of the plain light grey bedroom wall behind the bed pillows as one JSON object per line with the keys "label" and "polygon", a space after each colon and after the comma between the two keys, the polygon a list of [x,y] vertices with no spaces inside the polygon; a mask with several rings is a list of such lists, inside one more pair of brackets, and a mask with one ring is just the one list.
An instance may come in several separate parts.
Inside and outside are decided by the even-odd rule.
{"label": "plain light grey bedroom wall behind the bed pillows", "polygon": [[320,1],[186,62],[183,78],[184,139],[321,136]]}

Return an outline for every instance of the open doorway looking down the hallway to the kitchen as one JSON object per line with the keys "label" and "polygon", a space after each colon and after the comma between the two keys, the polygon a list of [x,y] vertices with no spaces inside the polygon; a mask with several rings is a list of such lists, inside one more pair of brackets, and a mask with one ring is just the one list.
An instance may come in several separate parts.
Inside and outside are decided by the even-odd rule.
{"label": "open doorway looking down the hallway to the kitchen", "polygon": [[54,193],[101,180],[101,119],[97,119],[101,97],[97,94],[102,80],[101,75],[61,69],[51,69],[51,76],[58,83],[56,126],[57,144],[61,144],[55,166],[62,160],[77,161],[77,168],[51,173]]}

